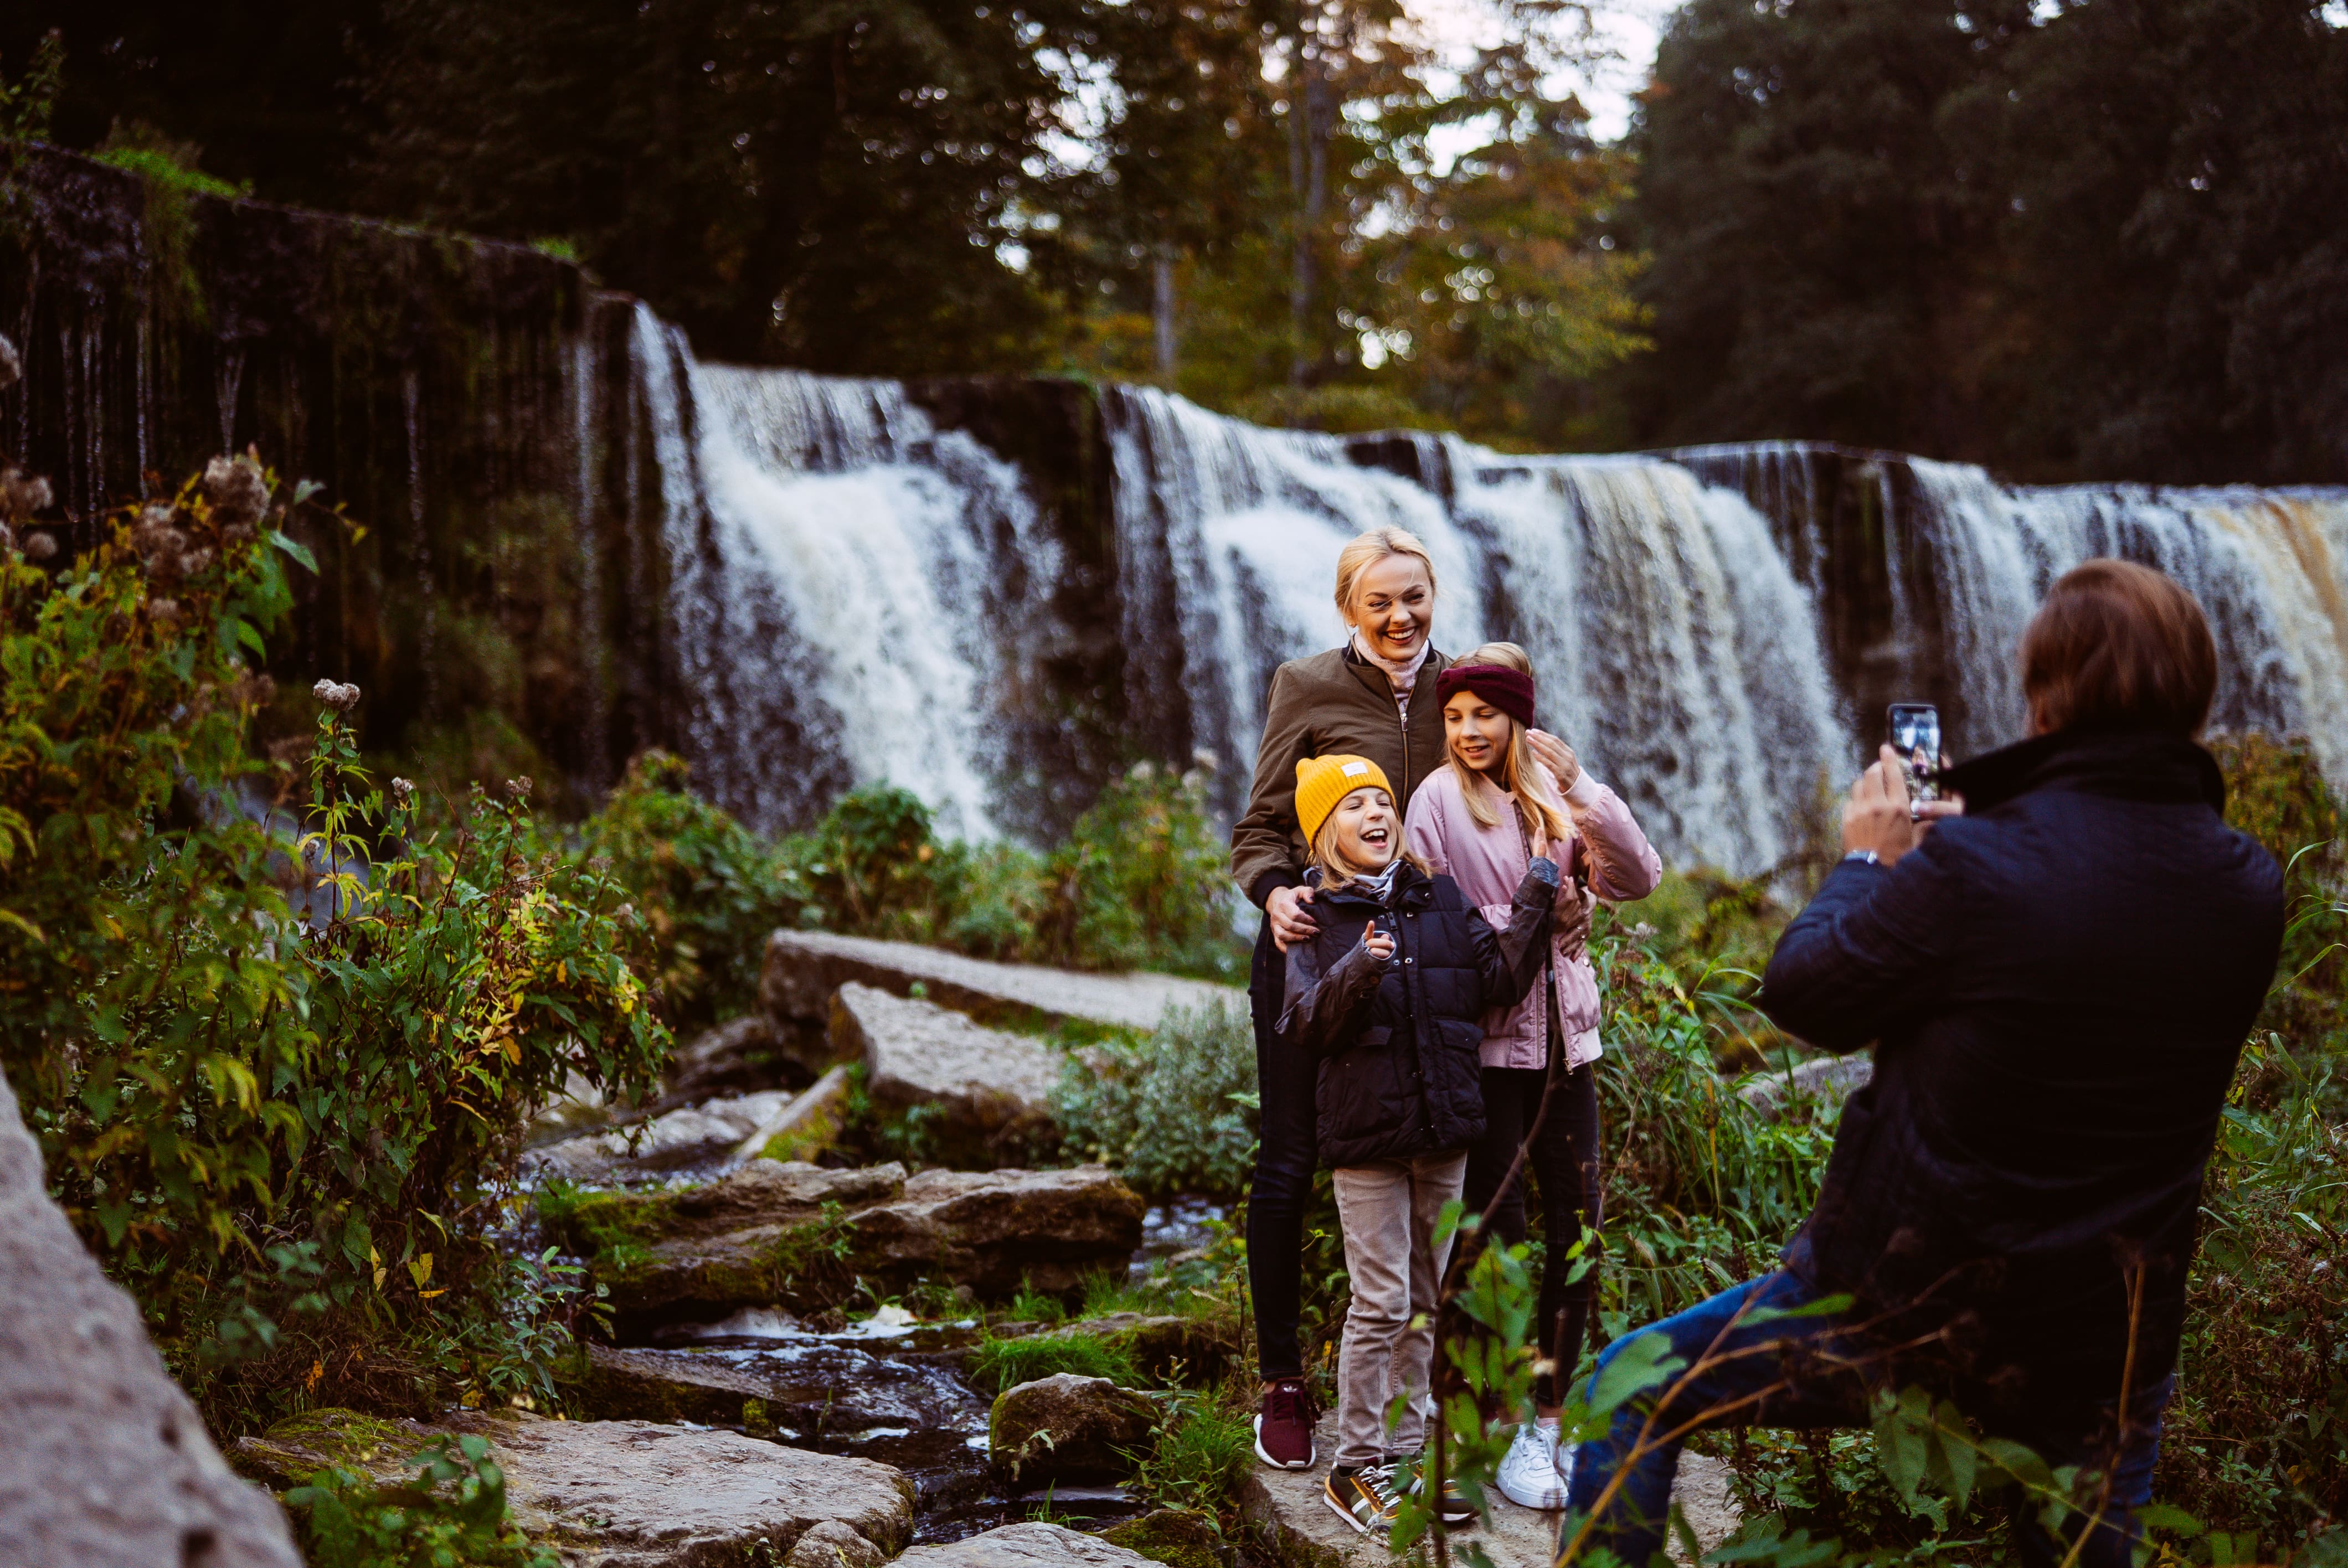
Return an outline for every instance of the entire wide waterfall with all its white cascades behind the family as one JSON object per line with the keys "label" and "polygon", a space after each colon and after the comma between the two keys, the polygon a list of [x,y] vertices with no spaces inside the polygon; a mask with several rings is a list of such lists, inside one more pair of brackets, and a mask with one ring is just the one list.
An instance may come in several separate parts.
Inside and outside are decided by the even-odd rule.
{"label": "entire wide waterfall with all its white cascades behind the family", "polygon": [[[949,833],[1019,829],[1031,817],[1007,800],[1045,768],[1033,737],[1101,683],[1136,756],[1219,753],[1216,805],[1235,812],[1273,669],[1341,641],[1336,552],[1371,526],[1432,549],[1439,648],[1526,646],[1545,723],[1674,861],[1780,864],[1820,782],[1862,761],[1857,674],[1824,634],[1850,582],[1890,599],[1846,660],[1888,660],[1895,681],[1946,671],[1982,751],[2022,732],[2012,653],[2047,582],[2097,554],[2151,561],[2209,610],[2217,723],[2308,732],[2348,779],[2339,491],[2010,488],[1801,444],[1514,458],[1261,430],[1108,387],[1099,603],[1099,568],[1071,566],[1068,530],[1092,521],[1040,509],[1019,467],[904,385],[702,366],[641,310],[632,369],[660,465],[676,730],[702,786],[768,829],[876,779],[920,793]],[[1836,533],[1838,495],[1864,502],[1857,533]],[[1841,570],[1831,552],[1853,547],[1881,559]],[[1122,634],[1115,664],[1071,653],[1064,589]]]}

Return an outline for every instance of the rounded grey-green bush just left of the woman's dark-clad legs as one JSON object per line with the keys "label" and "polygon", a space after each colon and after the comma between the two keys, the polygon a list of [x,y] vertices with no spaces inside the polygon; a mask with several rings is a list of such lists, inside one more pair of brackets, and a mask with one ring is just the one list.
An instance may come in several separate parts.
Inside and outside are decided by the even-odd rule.
{"label": "rounded grey-green bush just left of the woman's dark-clad legs", "polygon": [[1068,1143],[1143,1192],[1237,1195],[1256,1150],[1256,1035],[1226,1002],[1167,1007],[1141,1042],[1068,1059],[1052,1113]]}

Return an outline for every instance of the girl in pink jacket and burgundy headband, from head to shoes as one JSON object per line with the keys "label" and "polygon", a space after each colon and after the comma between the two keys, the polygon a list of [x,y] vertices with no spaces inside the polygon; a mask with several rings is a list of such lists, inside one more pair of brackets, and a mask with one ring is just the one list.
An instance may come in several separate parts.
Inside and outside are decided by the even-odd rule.
{"label": "girl in pink jacket and burgundy headband, from head to shoes", "polygon": [[[1557,1394],[1573,1378],[1590,1329],[1585,1272],[1573,1284],[1568,1251],[1599,1225],[1599,986],[1590,969],[1592,897],[1644,899],[1662,861],[1630,807],[1583,772],[1554,735],[1533,728],[1533,662],[1514,643],[1486,643],[1437,683],[1444,704],[1446,765],[1428,775],[1404,817],[1404,845],[1449,876],[1468,901],[1507,918],[1526,864],[1564,869],[1545,984],[1517,1007],[1484,1016],[1484,1138],[1468,1150],[1470,1214],[1493,1209],[1493,1230],[1524,1239],[1524,1174],[1503,1176],[1524,1148],[1540,1183],[1545,1261],[1540,1272],[1540,1354],[1536,1420],[1517,1427],[1500,1465],[1500,1491],[1522,1507],[1566,1505],[1571,1453],[1557,1448]],[[1531,1138],[1531,1143],[1526,1143]],[[1498,1197],[1498,1207],[1493,1207]]]}

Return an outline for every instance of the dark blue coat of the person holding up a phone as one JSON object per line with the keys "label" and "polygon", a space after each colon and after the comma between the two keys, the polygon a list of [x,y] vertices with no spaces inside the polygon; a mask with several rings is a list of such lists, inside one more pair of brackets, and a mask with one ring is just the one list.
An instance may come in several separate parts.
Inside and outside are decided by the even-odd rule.
{"label": "dark blue coat of the person holding up a phone", "polygon": [[2177,1364],[2202,1167],[2275,974],[2282,871],[2231,831],[2193,742],[2057,732],[1949,777],[1965,817],[1897,866],[1843,861],[1761,1009],[1874,1042],[1784,1261],[1949,1331],[1993,1404],[2120,1394]]}

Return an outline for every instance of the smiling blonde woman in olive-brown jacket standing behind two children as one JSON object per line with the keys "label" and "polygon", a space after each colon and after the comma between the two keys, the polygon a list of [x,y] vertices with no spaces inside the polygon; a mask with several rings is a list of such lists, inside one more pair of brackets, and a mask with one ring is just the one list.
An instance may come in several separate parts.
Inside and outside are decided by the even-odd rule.
{"label": "smiling blonde woman in olive-brown jacket standing behind two children", "polygon": [[1296,819],[1296,763],[1367,758],[1406,800],[1444,756],[1435,695],[1444,655],[1428,641],[1435,620],[1428,547],[1402,528],[1359,535],[1336,559],[1336,608],[1350,627],[1345,646],[1289,660],[1273,674],[1256,782],[1230,829],[1230,876],[1263,911],[1249,972],[1263,1131],[1247,1190],[1247,1282],[1263,1376],[1256,1458],[1280,1469],[1313,1467],[1320,1415],[1298,1345],[1315,1068],[1275,1035],[1282,953],[1320,932],[1315,892],[1305,885],[1310,845]]}

